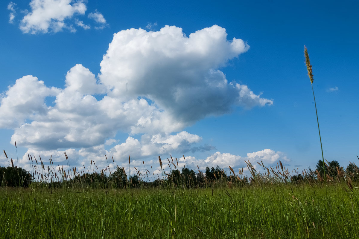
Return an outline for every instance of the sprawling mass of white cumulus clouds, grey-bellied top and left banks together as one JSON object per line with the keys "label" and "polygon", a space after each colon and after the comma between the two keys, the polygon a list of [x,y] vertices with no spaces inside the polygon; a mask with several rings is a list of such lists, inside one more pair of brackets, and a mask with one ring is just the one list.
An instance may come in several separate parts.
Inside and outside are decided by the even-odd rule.
{"label": "sprawling mass of white cumulus clouds, grey-bellied top and left banks together", "polygon": [[[114,34],[98,77],[76,64],[62,89],[34,76],[9,86],[0,98],[0,127],[14,129],[12,142],[34,152],[76,149],[79,160],[104,153],[122,159],[213,150],[199,145],[199,135],[182,130],[233,107],[273,103],[247,85],[229,82],[220,70],[248,49],[241,39],[227,40],[217,25],[188,37],[175,26],[123,30]],[[46,104],[49,96],[55,97],[52,105]],[[118,132],[129,134],[125,142],[114,139]],[[106,152],[105,142],[118,144]],[[101,154],[92,154],[95,150]]]}

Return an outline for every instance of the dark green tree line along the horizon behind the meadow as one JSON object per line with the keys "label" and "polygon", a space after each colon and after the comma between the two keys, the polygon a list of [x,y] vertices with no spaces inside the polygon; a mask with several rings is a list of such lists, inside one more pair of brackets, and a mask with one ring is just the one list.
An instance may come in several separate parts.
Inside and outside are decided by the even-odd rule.
{"label": "dark green tree line along the horizon behind the meadow", "polygon": [[[161,171],[162,178],[158,177],[154,181],[150,181],[148,178],[146,180],[146,177],[139,172],[137,172],[135,175],[127,177],[125,169],[117,167],[117,169],[113,172],[110,172],[109,175],[106,175],[103,170],[101,173],[94,171],[93,173],[83,173],[82,175],[79,173],[74,173],[72,178],[63,178],[61,181],[51,180],[50,182],[47,181],[43,183],[43,185],[46,185],[47,187],[83,187],[85,185],[92,188],[139,188],[167,185],[177,188],[203,188],[213,186],[231,187],[232,185],[244,186],[258,180],[258,178],[271,178],[274,181],[278,181],[279,178],[282,180],[282,182],[294,184],[306,182],[322,182],[324,180],[327,180],[328,182],[340,181],[341,179],[345,178],[348,178],[351,181],[359,181],[359,168],[355,163],[350,162],[349,165],[344,169],[344,167],[339,165],[338,161],[333,160],[330,162],[325,162],[324,166],[325,167],[323,168],[323,161],[319,160],[316,164],[315,170],[312,170],[308,167],[308,169],[302,171],[302,173],[290,175],[289,173],[285,174],[285,170],[283,170],[283,168],[283,173],[280,172],[280,168],[283,167],[281,164],[281,167],[277,168],[278,171],[275,172],[272,170],[272,174],[269,172],[268,168],[268,173],[253,174],[253,168],[251,171],[252,176],[238,176],[230,167],[229,175],[219,166],[211,168],[206,167],[205,173],[201,172],[200,170],[198,170],[196,173],[193,169],[185,167],[182,168],[181,171],[178,169],[173,169],[170,171],[170,173]],[[266,168],[265,166],[263,167]],[[326,178],[324,178],[324,171]],[[239,170],[239,172],[241,172],[241,170]],[[275,175],[278,175],[278,177]],[[33,182],[36,182],[34,177],[21,167],[0,167],[1,187],[28,187]]]}

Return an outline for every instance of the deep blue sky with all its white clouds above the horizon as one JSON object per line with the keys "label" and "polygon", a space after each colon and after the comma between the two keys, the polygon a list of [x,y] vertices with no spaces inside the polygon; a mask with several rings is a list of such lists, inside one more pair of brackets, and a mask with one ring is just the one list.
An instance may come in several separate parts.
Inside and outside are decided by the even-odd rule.
{"label": "deep blue sky with all its white clouds above the horizon", "polygon": [[358,0],[1,1],[0,144],[26,169],[28,154],[67,165],[64,151],[84,171],[131,156],[131,175],[160,168],[158,156],[167,171],[170,156],[201,171],[313,169],[306,45],[324,157],[357,163],[358,11]]}

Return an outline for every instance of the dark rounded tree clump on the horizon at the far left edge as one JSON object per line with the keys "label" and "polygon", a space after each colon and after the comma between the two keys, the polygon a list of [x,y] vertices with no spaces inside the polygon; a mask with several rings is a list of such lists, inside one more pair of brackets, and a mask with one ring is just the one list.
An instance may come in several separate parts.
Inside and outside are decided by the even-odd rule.
{"label": "dark rounded tree clump on the horizon at the far left edge", "polygon": [[1,187],[28,187],[32,181],[30,173],[21,167],[0,167]]}

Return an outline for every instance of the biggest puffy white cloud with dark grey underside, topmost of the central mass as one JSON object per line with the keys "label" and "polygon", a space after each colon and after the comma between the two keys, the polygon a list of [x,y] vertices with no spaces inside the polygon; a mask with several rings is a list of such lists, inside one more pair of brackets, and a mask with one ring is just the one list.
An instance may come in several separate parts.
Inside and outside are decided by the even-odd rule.
{"label": "biggest puffy white cloud with dark grey underside, topmost of the central mass", "polygon": [[241,39],[227,40],[225,29],[217,25],[188,37],[175,26],[158,32],[128,29],[114,35],[99,78],[111,89],[108,95],[147,97],[188,124],[234,106],[273,103],[246,85],[228,82],[217,69],[248,49]]}

